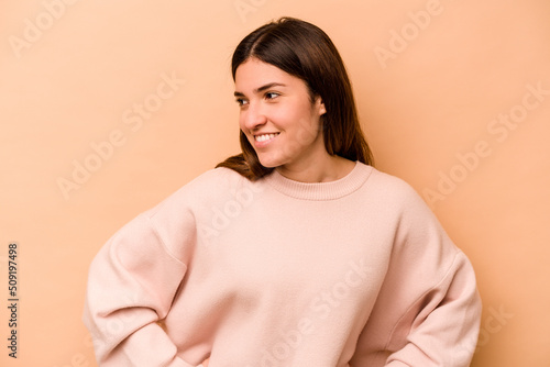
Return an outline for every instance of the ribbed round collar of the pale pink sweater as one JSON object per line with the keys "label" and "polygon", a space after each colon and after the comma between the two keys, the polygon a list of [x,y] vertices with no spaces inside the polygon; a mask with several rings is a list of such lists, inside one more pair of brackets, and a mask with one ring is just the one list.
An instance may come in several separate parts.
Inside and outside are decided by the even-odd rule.
{"label": "ribbed round collar of the pale pink sweater", "polygon": [[304,200],[334,200],[356,191],[366,182],[373,167],[355,162],[355,167],[344,177],[329,182],[300,182],[286,178],[277,170],[264,177],[277,191]]}

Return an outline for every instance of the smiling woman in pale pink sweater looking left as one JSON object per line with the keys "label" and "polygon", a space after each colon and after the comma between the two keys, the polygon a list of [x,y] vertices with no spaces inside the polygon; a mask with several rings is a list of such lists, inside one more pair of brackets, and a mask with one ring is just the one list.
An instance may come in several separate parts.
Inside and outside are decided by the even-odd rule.
{"label": "smiling woman in pale pink sweater looking left", "polygon": [[468,366],[474,271],[371,166],[343,63],[282,19],[232,59],[242,154],[103,246],[84,320],[101,366]]}

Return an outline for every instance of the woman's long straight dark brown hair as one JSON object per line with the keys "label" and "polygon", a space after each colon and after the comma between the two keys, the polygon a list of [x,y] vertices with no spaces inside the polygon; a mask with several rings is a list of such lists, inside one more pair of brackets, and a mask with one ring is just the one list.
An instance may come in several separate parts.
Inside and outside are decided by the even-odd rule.
{"label": "woman's long straight dark brown hair", "polygon": [[[315,97],[321,98],[327,110],[321,116],[321,129],[330,155],[373,164],[348,73],[334,44],[321,29],[295,18],[282,18],[258,27],[244,37],[233,53],[233,81],[237,68],[251,57],[304,80],[311,101]],[[216,167],[231,168],[250,180],[271,174],[274,168],[262,166],[242,131],[240,141],[242,153]]]}

